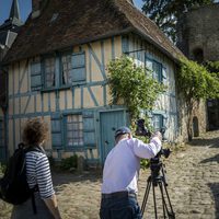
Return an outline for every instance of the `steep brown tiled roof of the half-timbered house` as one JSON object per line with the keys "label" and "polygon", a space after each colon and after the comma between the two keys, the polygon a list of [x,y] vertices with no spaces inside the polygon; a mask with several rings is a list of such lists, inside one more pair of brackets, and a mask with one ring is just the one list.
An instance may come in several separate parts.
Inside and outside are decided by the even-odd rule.
{"label": "steep brown tiled roof of the half-timbered house", "polygon": [[15,60],[136,32],[173,59],[183,56],[158,26],[127,0],[53,0],[27,19],[4,58]]}

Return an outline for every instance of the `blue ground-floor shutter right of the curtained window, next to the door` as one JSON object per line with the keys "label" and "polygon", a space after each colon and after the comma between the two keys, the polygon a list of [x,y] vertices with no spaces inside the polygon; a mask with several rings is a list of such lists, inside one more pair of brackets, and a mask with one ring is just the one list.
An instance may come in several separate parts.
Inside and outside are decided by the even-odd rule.
{"label": "blue ground-floor shutter right of the curtained window, next to the door", "polygon": [[93,112],[83,113],[83,138],[85,147],[94,147],[96,145]]}

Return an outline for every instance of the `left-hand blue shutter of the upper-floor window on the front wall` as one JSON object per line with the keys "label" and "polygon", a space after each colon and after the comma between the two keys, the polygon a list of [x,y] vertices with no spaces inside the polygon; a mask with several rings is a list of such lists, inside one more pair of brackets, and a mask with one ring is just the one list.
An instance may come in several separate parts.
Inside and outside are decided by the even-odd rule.
{"label": "left-hand blue shutter of the upper-floor window on the front wall", "polygon": [[31,64],[31,90],[37,91],[43,87],[41,61]]}

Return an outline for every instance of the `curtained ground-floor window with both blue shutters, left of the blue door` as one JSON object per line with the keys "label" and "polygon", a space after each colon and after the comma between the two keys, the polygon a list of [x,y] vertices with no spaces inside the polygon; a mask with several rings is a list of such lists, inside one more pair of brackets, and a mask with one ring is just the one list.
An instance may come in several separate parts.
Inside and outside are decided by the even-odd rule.
{"label": "curtained ground-floor window with both blue shutters, left of the blue door", "polygon": [[51,140],[54,149],[96,147],[94,112],[85,111],[78,114],[51,115]]}

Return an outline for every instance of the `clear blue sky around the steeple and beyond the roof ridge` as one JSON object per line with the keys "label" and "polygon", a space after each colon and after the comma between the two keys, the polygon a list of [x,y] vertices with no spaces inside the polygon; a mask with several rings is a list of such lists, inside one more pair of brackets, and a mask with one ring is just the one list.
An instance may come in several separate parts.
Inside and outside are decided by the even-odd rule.
{"label": "clear blue sky around the steeple and beyond the roof ridge", "polygon": [[[134,0],[136,7],[141,9],[142,0]],[[12,0],[0,0],[0,25],[9,19]],[[32,8],[32,0],[19,0],[21,19],[24,22],[28,16]]]}

